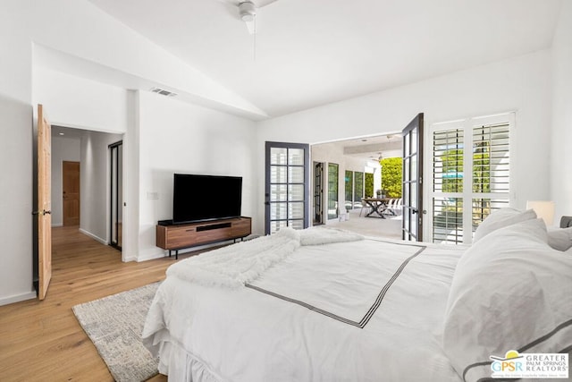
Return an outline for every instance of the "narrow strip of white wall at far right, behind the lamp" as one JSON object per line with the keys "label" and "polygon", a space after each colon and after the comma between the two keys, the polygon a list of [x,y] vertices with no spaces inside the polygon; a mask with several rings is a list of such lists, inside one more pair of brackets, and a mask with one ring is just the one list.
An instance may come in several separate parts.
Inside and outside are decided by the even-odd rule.
{"label": "narrow strip of white wall at far right, behind the lamp", "polygon": [[552,48],[551,199],[559,216],[572,215],[572,2],[562,3]]}

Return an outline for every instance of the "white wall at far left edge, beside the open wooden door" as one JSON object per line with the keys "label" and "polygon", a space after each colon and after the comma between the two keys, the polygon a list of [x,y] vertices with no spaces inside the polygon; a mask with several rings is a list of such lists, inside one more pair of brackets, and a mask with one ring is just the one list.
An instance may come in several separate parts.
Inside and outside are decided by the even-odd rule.
{"label": "white wall at far left edge, beside the open wooden door", "polygon": [[32,106],[29,35],[32,2],[0,12],[0,304],[36,296],[32,285]]}

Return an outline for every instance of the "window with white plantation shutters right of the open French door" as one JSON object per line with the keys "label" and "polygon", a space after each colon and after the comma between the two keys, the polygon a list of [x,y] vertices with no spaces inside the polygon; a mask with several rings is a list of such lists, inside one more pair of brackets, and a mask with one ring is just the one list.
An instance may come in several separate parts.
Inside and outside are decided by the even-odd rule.
{"label": "window with white plantation shutters right of the open French door", "polygon": [[513,125],[507,114],[432,126],[433,242],[470,243],[486,216],[509,206]]}

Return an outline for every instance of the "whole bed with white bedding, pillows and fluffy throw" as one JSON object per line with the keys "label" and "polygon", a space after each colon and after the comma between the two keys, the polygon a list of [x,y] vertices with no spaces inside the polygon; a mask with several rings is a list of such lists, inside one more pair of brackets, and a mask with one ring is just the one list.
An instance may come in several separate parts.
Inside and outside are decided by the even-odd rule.
{"label": "whole bed with white bedding, pillows and fluffy throw", "polygon": [[169,267],[144,343],[174,381],[487,380],[571,352],[570,246],[513,208],[471,247],[282,229]]}

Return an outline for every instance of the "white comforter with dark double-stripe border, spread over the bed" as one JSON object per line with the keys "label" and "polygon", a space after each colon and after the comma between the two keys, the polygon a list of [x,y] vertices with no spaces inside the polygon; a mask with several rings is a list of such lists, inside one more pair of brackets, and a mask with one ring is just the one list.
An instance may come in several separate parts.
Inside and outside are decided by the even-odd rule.
{"label": "white comforter with dark double-stripe border, spread over the bed", "polygon": [[172,272],[143,337],[174,381],[458,381],[441,343],[461,250],[402,244],[302,245],[234,288]]}

